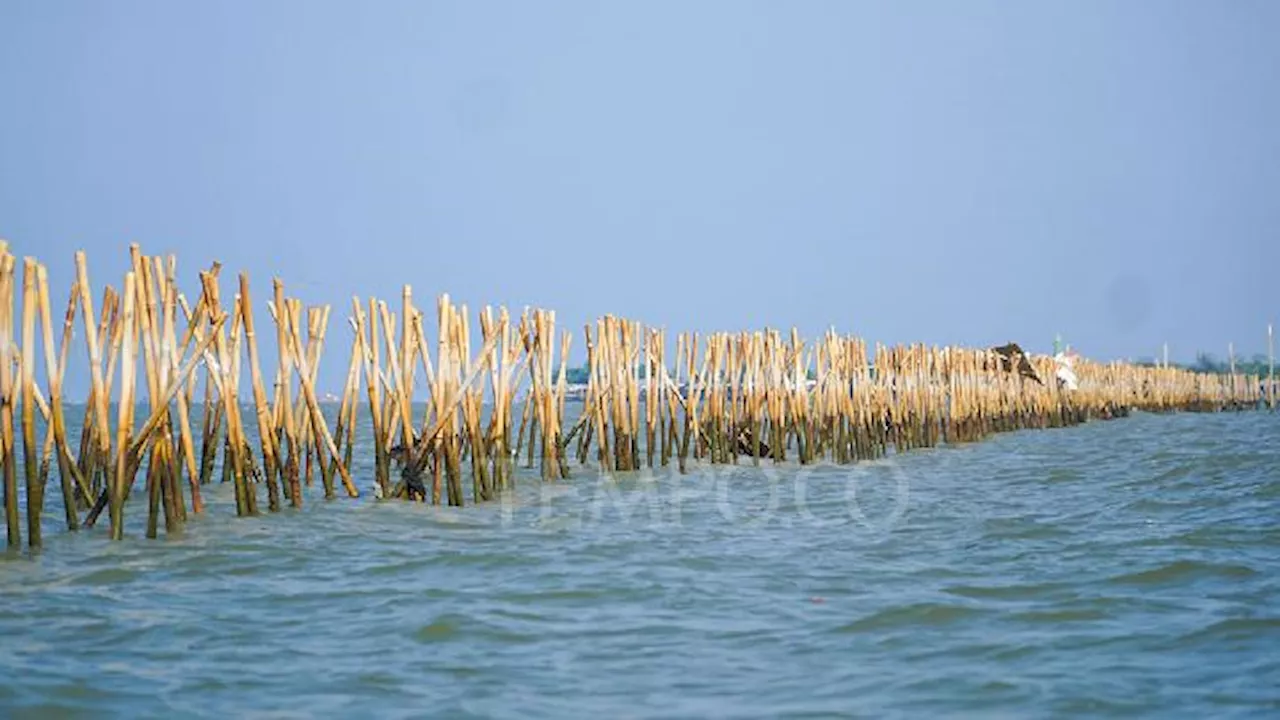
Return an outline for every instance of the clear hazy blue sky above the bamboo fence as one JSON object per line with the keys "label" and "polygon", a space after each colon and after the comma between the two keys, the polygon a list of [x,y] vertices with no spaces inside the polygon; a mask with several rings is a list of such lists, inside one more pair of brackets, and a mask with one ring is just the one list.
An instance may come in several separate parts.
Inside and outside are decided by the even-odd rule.
{"label": "clear hazy blue sky above the bamboo fence", "polygon": [[0,237],[59,302],[132,241],[192,293],[279,275],[330,347],[411,283],[576,356],[604,313],[1265,351],[1277,36],[1268,0],[4,0]]}

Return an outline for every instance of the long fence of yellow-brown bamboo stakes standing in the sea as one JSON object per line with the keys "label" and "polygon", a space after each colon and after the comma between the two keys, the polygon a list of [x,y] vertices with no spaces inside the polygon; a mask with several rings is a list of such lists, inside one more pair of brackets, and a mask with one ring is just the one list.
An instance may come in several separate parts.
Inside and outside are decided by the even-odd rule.
{"label": "long fence of yellow-brown bamboo stakes standing in the sea", "polygon": [[[84,254],[76,254],[55,342],[45,268],[26,258],[19,278],[17,258],[0,241],[9,546],[22,542],[15,432],[27,537],[38,547],[51,474],[68,529],[92,528],[105,511],[120,539],[140,491],[146,534],[156,537],[161,521],[174,533],[188,514],[204,511],[201,488],[215,474],[233,484],[238,515],[259,514],[264,491],[269,511],[302,507],[303,487],[316,478],[325,498],[357,497],[349,468],[361,433],[371,433],[376,497],[462,506],[467,486],[470,502],[509,489],[518,464],[539,466],[543,482],[567,478],[573,462],[609,471],[672,462],[686,471],[696,461],[844,464],[1132,409],[1217,411],[1263,400],[1253,375],[1088,360],[1075,364],[1078,389],[1064,391],[1051,357],[924,345],[869,351],[835,331],[815,342],[795,329],[682,333],[669,354],[664,331],[607,315],[582,328],[589,377],[576,397],[582,411],[566,428],[573,333],[557,333],[554,311],[525,309],[515,319],[485,307],[474,338],[467,307],[442,296],[433,348],[425,313],[406,286],[398,314],[385,301],[352,300],[346,386],[337,416],[326,418],[315,384],[329,306],[305,306],[279,279],[270,300],[255,305],[262,296],[251,295],[247,273],[224,293],[218,263],[198,273],[192,304],[179,291],[173,256],[146,256],[137,245],[129,252],[119,290],[104,286],[100,296]],[[270,325],[255,318],[264,306]],[[273,341],[276,365],[264,368],[259,347]],[[73,406],[83,413],[77,442],[67,433],[63,379],[68,363],[83,360],[90,389],[83,407]],[[1020,360],[1033,372],[1019,372]],[[246,363],[251,402],[242,405]],[[425,404],[415,402],[420,391]]]}

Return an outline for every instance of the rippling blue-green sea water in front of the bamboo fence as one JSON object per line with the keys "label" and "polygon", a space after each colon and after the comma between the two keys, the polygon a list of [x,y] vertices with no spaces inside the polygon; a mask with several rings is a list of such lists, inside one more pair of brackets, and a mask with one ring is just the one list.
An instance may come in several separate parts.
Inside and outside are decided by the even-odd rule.
{"label": "rippling blue-green sea water in front of the bamboo fence", "polygon": [[1275,716],[1277,441],[1139,414],[243,520],[212,486],[123,543],[51,489],[0,556],[0,715]]}

